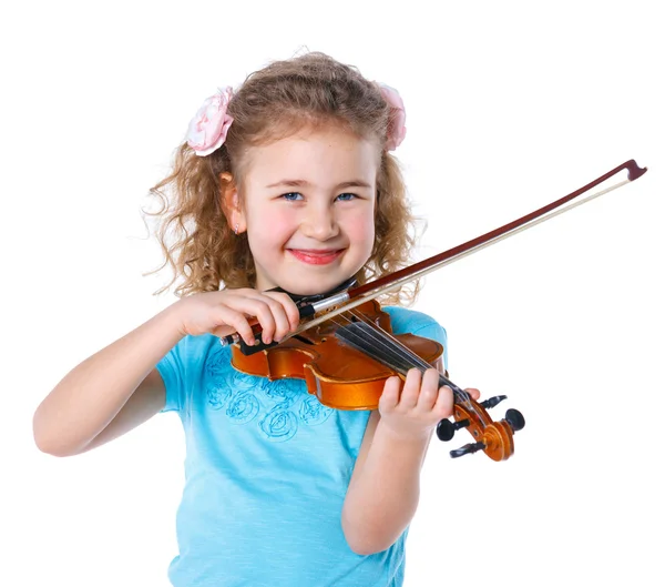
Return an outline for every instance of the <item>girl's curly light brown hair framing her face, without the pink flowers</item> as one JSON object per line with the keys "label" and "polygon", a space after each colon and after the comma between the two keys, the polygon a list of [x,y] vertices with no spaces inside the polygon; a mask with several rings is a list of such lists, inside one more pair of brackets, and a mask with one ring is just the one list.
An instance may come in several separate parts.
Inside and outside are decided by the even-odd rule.
{"label": "girl's curly light brown hair framing her face, without the pink flowers", "polygon": [[[379,87],[359,71],[332,58],[310,52],[276,61],[252,73],[228,104],[233,117],[224,144],[198,156],[187,143],[176,153],[172,172],[150,193],[158,199],[156,237],[173,279],[174,293],[184,295],[221,287],[253,287],[256,270],[247,237],[231,229],[223,199],[228,173],[242,194],[244,153],[247,146],[266,144],[308,126],[334,122],[358,136],[386,144],[390,107]],[[222,176],[224,174],[224,176]],[[408,264],[415,243],[411,214],[398,161],[382,149],[377,176],[376,236],[371,255],[355,277],[360,284]],[[413,282],[392,292],[386,302],[408,304],[419,290]]]}

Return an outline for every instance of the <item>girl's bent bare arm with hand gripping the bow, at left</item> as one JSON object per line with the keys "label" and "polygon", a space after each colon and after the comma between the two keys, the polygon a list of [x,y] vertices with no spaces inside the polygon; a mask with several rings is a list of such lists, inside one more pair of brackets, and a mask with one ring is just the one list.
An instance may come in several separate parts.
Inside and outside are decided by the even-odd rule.
{"label": "girl's bent bare arm with hand gripping the bow, at left", "polygon": [[247,344],[256,316],[264,340],[295,330],[298,308],[282,293],[227,290],[184,297],[74,367],[39,405],[37,446],[55,456],[90,451],[156,414],[165,389],[155,365],[185,335],[238,332]]}

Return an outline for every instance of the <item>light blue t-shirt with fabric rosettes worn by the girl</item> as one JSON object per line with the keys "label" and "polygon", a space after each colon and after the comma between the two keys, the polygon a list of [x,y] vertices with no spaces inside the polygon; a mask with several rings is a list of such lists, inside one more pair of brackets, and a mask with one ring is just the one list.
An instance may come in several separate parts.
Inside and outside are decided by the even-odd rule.
{"label": "light blue t-shirt with fabric rosettes worn by the girl", "polygon": [[[395,333],[446,345],[429,316],[387,307]],[[447,364],[444,356],[444,364]],[[165,412],[185,441],[175,587],[399,587],[407,532],[355,554],[341,508],[369,411],[325,407],[300,379],[245,375],[213,335],[186,336],[157,364]]]}

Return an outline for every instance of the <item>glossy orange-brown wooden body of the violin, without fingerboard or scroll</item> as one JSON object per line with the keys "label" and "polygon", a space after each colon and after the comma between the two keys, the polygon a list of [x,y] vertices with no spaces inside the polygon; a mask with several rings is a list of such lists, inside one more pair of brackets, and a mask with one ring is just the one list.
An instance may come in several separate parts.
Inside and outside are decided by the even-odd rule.
{"label": "glossy orange-brown wooden body of the violin, without fingerboard or scroll", "polygon": [[[358,306],[364,321],[392,333],[390,316],[378,302]],[[346,346],[335,336],[337,325],[324,322],[279,345],[245,355],[239,345],[232,346],[232,365],[248,375],[305,379],[307,391],[335,409],[377,409],[388,377],[397,373],[365,353]],[[437,341],[413,334],[395,334],[401,344],[423,361],[439,367],[443,346]]]}

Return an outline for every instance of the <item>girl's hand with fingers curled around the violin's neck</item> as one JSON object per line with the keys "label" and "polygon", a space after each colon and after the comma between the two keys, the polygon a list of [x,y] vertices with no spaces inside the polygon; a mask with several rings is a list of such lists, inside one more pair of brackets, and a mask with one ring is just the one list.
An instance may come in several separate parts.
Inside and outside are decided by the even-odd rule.
{"label": "girl's hand with fingers curled around the violin's neck", "polygon": [[[452,415],[452,389],[439,387],[439,372],[428,368],[421,373],[412,368],[400,393],[401,379],[397,376],[386,381],[379,398],[381,426],[405,439],[429,437],[437,424]],[[474,387],[464,389],[473,399],[480,397]]]}

